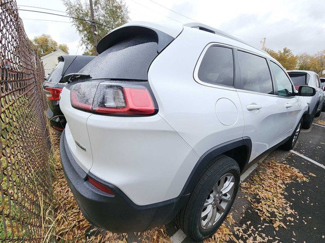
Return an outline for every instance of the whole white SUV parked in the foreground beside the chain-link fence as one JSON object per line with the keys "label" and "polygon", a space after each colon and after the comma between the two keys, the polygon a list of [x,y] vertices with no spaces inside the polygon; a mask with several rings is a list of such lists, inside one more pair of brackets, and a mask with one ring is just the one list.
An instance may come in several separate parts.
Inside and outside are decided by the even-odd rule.
{"label": "whole white SUV parked in the foreground beside the chain-link fence", "polygon": [[268,54],[211,27],[131,22],[64,77],[61,160],[93,225],[143,231],[176,218],[192,239],[220,226],[240,174],[291,149],[308,110]]}

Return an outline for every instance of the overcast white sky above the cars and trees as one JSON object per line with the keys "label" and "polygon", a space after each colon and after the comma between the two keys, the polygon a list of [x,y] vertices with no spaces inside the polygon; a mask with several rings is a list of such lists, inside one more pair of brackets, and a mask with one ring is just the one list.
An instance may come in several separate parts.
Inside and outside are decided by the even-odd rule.
{"label": "overcast white sky above the cars and trees", "polygon": [[[196,20],[232,33],[256,48],[261,48],[261,39],[266,37],[266,47],[273,50],[288,47],[295,54],[314,54],[325,49],[325,0],[153,1],[188,18],[150,0],[125,0],[129,18],[133,21],[164,21],[171,24]],[[17,0],[17,4],[20,9],[57,14],[64,13],[21,5],[63,12],[66,10],[61,0]],[[79,35],[69,23],[69,18],[25,11],[19,11],[19,14],[29,38],[43,33],[50,34],[58,44],[66,43],[71,55],[83,53],[83,47],[79,46]]]}

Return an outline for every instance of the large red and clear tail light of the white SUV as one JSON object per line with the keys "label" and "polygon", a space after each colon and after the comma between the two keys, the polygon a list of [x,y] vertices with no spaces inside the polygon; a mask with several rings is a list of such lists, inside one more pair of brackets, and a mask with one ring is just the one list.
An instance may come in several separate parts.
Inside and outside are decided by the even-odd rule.
{"label": "large red and clear tail light of the white SUV", "polygon": [[156,111],[146,87],[79,83],[71,90],[71,105],[101,114],[149,115]]}

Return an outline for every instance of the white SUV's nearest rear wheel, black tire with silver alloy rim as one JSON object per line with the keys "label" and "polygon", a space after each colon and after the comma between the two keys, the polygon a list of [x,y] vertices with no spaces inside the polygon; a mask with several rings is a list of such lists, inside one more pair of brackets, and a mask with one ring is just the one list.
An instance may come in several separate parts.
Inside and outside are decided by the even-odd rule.
{"label": "white SUV's nearest rear wheel, black tire with silver alloy rim", "polygon": [[[176,217],[178,226],[189,238],[195,241],[201,241],[213,235],[220,227],[231,210],[239,187],[240,169],[234,159],[220,155],[211,162],[191,193],[186,207]],[[215,195],[217,191],[220,191],[218,190],[220,187],[218,183],[221,181],[226,183],[221,191],[226,192],[226,189],[233,185],[232,189],[228,193],[221,195],[221,192],[218,192],[219,194]],[[229,186],[226,186],[228,183]],[[216,205],[216,201],[219,206]],[[204,207],[204,204],[208,203],[209,205]],[[223,213],[219,208],[224,210]],[[209,214],[201,218],[203,212],[209,212]],[[212,220],[214,214],[216,216]],[[209,223],[210,218],[213,222],[211,225]]]}

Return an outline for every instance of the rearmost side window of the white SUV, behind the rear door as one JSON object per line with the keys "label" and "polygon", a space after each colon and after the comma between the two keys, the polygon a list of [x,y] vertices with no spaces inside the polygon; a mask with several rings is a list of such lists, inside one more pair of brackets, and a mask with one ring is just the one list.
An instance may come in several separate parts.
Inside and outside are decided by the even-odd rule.
{"label": "rearmost side window of the white SUV, behind the rear door", "polygon": [[200,64],[198,77],[212,85],[234,85],[233,49],[219,46],[210,47]]}

